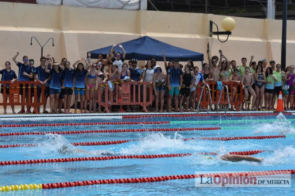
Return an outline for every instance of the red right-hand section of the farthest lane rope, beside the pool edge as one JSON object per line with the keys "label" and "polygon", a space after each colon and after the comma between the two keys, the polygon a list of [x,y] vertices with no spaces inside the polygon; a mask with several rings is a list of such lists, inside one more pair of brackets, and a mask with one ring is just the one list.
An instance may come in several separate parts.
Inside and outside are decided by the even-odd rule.
{"label": "red right-hand section of the farthest lane rope, beside the pool edge", "polygon": [[[264,115],[278,115],[279,113],[227,113],[227,114],[150,114],[150,115],[124,115],[122,118],[146,118],[146,117],[185,117],[185,116],[264,116]],[[292,113],[283,113],[284,115],[291,115]]]}

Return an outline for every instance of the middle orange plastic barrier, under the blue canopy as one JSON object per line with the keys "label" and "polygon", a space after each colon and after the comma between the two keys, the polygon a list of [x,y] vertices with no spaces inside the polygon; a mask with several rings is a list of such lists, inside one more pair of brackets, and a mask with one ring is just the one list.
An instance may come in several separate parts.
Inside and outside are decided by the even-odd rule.
{"label": "middle orange plastic barrier, under the blue canopy", "polygon": [[[104,85],[100,83],[100,85]],[[99,104],[104,106],[105,111],[110,113],[109,107],[111,105],[141,105],[145,112],[148,112],[146,107],[153,102],[153,86],[148,82],[143,82],[140,84],[139,82],[122,82],[113,84],[115,87],[113,92],[109,91],[109,87],[105,86],[105,100],[103,102],[101,91],[98,91]],[[119,97],[119,89],[122,89],[122,95]],[[132,90],[132,92],[131,92]],[[109,93],[113,93],[115,95],[112,96],[111,100],[109,100]],[[111,104],[108,102],[110,101]]]}

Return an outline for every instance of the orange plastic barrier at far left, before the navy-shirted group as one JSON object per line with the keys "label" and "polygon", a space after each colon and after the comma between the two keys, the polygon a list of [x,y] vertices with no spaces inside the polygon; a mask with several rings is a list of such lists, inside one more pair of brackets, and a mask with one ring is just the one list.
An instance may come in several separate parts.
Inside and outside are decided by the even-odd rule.
{"label": "orange plastic barrier at far left, before the navy-shirted group", "polygon": [[[43,105],[45,101],[45,88],[46,86],[42,85],[41,88],[41,101],[37,102],[37,84],[40,84],[39,82],[35,81],[16,81],[13,84],[10,83],[10,81],[0,81],[3,86],[1,86],[1,89],[3,89],[3,103],[0,103],[0,105],[28,105],[34,108],[35,113],[38,113],[37,108],[40,107],[40,105]],[[6,85],[9,85],[6,87]],[[38,87],[39,88],[39,87]],[[6,97],[6,89],[9,91],[8,94],[8,103],[5,99]],[[26,95],[28,94],[27,102],[25,100]]]}

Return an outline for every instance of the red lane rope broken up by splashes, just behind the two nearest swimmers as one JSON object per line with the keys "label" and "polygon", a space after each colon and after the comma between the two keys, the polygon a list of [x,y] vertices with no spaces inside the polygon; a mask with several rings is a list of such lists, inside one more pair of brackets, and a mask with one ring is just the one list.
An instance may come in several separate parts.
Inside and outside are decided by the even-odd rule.
{"label": "red lane rope broken up by splashes, just behind the two nearest swimmers", "polygon": [[[262,135],[262,136],[242,136],[242,137],[212,137],[212,138],[183,138],[183,141],[188,140],[251,140],[251,139],[272,139],[272,138],[286,138],[286,137],[295,137],[295,135]],[[141,139],[134,140],[116,140],[116,141],[102,141],[102,142],[75,142],[71,143],[74,146],[98,146],[98,145],[112,145],[112,144],[122,144],[130,141],[139,141]],[[0,148],[14,148],[14,147],[34,147],[38,144],[7,144],[0,145]]]}

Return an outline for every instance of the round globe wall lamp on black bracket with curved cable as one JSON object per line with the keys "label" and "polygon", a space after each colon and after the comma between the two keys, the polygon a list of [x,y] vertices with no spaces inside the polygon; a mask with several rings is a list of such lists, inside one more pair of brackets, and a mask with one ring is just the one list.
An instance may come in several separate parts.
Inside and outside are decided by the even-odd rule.
{"label": "round globe wall lamp on black bracket with curved cable", "polygon": [[[210,34],[209,36],[212,37],[212,35],[217,35],[217,38],[220,42],[226,42],[229,35],[232,34],[232,30],[235,28],[236,26],[236,22],[233,18],[231,17],[226,17],[225,19],[222,20],[221,26],[225,31],[218,31],[218,26],[217,24],[215,24],[217,31],[212,31],[213,29],[213,24],[215,24],[212,20],[210,20]],[[221,41],[219,39],[219,35],[227,35],[227,38],[225,41]]]}

